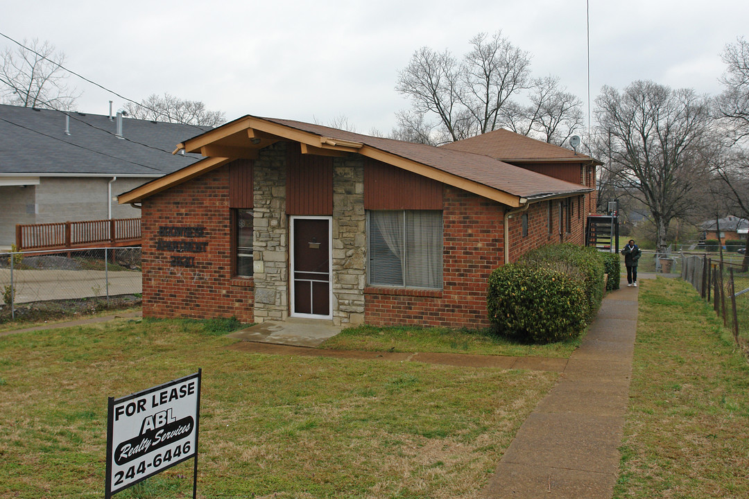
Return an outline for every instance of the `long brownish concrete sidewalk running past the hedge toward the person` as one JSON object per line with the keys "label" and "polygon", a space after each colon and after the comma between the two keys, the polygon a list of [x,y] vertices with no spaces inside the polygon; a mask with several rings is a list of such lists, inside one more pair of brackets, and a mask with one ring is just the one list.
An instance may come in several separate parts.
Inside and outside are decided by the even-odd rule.
{"label": "long brownish concrete sidewalk running past the hedge toward the person", "polygon": [[623,283],[606,296],[560,382],[518,430],[482,498],[613,495],[637,331],[638,288]]}

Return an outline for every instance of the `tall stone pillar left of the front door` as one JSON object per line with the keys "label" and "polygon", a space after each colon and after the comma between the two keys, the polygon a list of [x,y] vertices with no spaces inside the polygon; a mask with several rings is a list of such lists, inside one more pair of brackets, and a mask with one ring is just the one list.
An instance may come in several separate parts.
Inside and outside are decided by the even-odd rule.
{"label": "tall stone pillar left of the front door", "polygon": [[288,318],[286,144],[262,150],[253,166],[255,322]]}

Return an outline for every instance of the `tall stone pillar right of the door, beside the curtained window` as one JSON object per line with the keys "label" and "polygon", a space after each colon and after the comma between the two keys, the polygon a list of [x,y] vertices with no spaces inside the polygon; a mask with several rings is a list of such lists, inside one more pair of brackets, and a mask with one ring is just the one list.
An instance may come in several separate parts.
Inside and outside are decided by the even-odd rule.
{"label": "tall stone pillar right of the door, beside the curtained window", "polygon": [[366,285],[364,162],[333,162],[333,323],[364,322]]}

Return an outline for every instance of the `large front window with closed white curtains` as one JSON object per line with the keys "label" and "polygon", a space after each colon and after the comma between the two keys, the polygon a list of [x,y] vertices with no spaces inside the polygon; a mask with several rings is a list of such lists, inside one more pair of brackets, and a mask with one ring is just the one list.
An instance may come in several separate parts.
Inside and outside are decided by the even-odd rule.
{"label": "large front window with closed white curtains", "polygon": [[442,289],[442,212],[369,211],[369,284]]}

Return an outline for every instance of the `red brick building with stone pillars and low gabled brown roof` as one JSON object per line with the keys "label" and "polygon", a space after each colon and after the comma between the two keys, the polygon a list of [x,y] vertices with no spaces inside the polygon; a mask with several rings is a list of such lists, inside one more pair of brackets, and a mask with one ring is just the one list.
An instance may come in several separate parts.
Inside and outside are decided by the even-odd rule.
{"label": "red brick building with stone pillars and low gabled brown roof", "polygon": [[190,138],[205,159],[119,196],[142,203],[143,313],[485,327],[492,270],[583,244],[600,165],[507,133],[529,161],[493,156],[523,168],[253,116]]}

